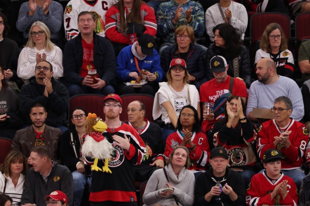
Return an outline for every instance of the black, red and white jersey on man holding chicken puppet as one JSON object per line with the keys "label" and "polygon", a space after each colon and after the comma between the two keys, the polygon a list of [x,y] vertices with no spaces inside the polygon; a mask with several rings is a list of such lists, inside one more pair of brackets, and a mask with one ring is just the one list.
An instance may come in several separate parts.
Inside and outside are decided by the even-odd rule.
{"label": "black, red and white jersey on man holding chicken puppet", "polygon": [[[112,136],[118,135],[129,139],[129,152],[114,146],[114,154],[108,161],[108,168],[110,173],[103,173],[101,171],[92,171],[91,187],[89,201],[92,202],[128,202],[128,206],[134,205],[136,202],[135,186],[134,186],[134,168],[132,165],[139,165],[145,154],[145,145],[136,131],[129,125],[122,123],[116,129],[107,128],[102,133],[110,143],[113,143]],[[87,165],[92,165],[94,159],[85,157]],[[98,160],[97,166],[102,168],[104,163]],[[136,203],[135,203],[136,204]]]}

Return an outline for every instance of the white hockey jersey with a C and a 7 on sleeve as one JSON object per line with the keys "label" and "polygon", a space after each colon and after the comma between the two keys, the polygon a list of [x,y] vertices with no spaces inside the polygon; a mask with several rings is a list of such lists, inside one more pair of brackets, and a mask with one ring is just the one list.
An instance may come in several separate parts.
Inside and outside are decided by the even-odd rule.
{"label": "white hockey jersey with a C and a 7 on sleeve", "polygon": [[100,36],[105,36],[105,12],[118,0],[96,0],[92,5],[86,0],[70,0],[63,14],[65,37],[67,40],[74,38],[78,33],[77,16],[81,11],[89,11],[95,17],[96,27],[94,31]]}

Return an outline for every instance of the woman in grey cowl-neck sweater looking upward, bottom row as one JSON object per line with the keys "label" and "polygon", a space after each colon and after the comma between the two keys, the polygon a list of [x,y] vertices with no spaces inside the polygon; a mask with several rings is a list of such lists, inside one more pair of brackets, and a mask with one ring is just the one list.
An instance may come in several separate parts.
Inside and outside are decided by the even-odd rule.
{"label": "woman in grey cowl-neck sweater looking upward, bottom row", "polygon": [[143,194],[144,206],[192,206],[195,178],[187,170],[190,165],[187,148],[175,147],[166,163],[167,166],[156,170],[149,178]]}

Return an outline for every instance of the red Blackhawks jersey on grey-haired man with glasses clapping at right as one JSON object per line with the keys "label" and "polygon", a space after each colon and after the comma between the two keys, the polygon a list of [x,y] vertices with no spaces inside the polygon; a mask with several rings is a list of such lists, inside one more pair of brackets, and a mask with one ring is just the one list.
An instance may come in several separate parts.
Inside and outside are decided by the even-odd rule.
{"label": "red Blackhawks jersey on grey-haired man with glasses clapping at right", "polygon": [[304,124],[291,119],[285,131],[291,131],[289,135],[290,146],[285,149],[279,144],[276,148],[273,145],[274,137],[278,137],[282,132],[275,123],[269,120],[260,125],[257,132],[257,153],[262,159],[263,153],[268,149],[279,150],[284,159],[281,160],[282,170],[293,170],[301,168],[303,154],[308,142],[308,131]]}

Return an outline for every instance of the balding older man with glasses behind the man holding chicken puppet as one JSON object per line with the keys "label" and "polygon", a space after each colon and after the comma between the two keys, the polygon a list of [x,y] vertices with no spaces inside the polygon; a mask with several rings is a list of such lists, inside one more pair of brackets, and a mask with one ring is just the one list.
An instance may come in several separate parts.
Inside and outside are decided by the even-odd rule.
{"label": "balding older man with glasses behind the man holding chicken puppet", "polygon": [[158,168],[163,168],[164,141],[161,128],[144,119],[145,106],[140,101],[133,101],[127,107],[128,124],[140,135],[146,146],[146,155],[140,165],[135,166],[135,180],[144,182]]}

